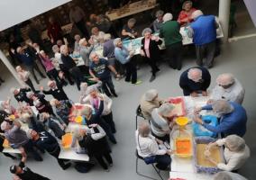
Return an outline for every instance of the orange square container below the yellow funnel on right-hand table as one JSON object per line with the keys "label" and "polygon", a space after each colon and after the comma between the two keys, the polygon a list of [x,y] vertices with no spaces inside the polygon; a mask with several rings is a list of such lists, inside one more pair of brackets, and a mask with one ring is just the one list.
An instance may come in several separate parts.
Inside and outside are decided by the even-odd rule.
{"label": "orange square container below the yellow funnel on right-hand table", "polygon": [[176,138],[175,139],[175,155],[178,157],[192,157],[192,139]]}

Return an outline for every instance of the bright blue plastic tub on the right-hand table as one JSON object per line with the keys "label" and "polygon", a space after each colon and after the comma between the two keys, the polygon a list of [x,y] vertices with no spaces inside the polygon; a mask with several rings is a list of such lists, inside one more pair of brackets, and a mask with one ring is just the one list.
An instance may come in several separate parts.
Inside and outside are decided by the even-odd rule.
{"label": "bright blue plastic tub on the right-hand table", "polygon": [[[202,116],[202,120],[211,126],[216,127],[218,125],[218,119],[214,115],[204,115],[204,116]],[[196,137],[197,136],[208,136],[208,137],[212,137],[212,138],[217,137],[217,133],[215,133],[211,130],[207,130],[201,124],[193,122],[192,126],[193,126],[194,135]]]}

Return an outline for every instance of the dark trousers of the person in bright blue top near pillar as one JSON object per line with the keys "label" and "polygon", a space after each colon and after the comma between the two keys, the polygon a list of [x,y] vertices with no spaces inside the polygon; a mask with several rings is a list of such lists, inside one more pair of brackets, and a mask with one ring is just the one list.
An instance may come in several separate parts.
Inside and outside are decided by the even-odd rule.
{"label": "dark trousers of the person in bright blue top near pillar", "polygon": [[[197,65],[202,67],[213,67],[213,63],[215,60],[215,48],[216,42],[210,42],[204,45],[197,46]],[[206,57],[206,61],[204,62],[204,58]]]}

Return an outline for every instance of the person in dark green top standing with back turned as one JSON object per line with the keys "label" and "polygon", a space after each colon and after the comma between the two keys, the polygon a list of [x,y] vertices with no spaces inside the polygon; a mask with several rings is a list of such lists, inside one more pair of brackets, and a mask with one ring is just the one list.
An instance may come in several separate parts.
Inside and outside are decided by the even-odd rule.
{"label": "person in dark green top standing with back turned", "polygon": [[180,70],[182,67],[182,36],[179,24],[172,21],[172,14],[164,14],[160,27],[160,38],[164,39],[169,67]]}

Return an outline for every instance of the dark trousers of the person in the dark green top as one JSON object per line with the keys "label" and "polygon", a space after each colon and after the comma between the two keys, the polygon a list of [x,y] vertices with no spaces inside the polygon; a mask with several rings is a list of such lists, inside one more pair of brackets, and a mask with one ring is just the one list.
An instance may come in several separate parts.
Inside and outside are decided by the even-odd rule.
{"label": "dark trousers of the person in the dark green top", "polygon": [[182,42],[169,45],[166,48],[166,53],[169,58],[169,66],[180,70],[182,67]]}

